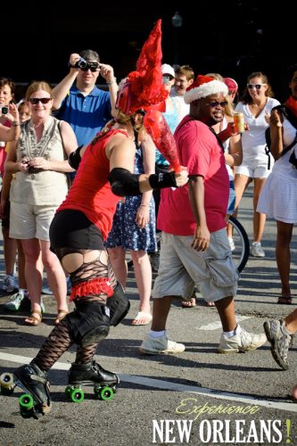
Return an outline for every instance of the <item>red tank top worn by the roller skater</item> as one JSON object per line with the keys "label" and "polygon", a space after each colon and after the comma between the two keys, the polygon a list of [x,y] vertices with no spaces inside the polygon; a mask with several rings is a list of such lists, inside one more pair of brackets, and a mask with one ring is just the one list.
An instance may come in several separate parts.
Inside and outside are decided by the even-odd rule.
{"label": "red tank top worn by the roller skater", "polygon": [[110,161],[105,154],[106,144],[117,133],[127,136],[120,129],[113,129],[99,137],[95,145],[87,145],[70,192],[57,210],[59,212],[72,209],[83,212],[99,227],[104,240],[111,231],[113,214],[120,200],[119,196],[111,192],[107,179],[110,174]]}

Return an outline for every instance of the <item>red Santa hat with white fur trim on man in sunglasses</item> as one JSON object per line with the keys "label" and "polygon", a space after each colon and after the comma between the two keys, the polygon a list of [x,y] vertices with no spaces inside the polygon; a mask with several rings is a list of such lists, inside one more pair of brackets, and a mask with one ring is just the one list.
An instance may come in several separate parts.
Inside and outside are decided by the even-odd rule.
{"label": "red Santa hat with white fur trim on man in sunglasses", "polygon": [[202,97],[218,95],[219,93],[224,96],[228,94],[228,89],[224,82],[199,74],[193,84],[186,88],[184,99],[185,103],[193,103],[193,101],[202,99]]}

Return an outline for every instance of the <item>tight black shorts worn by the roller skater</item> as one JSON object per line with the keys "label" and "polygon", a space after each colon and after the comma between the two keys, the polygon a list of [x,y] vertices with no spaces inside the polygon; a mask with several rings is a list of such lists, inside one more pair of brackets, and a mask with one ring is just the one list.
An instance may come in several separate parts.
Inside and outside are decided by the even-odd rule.
{"label": "tight black shorts worn by the roller skater", "polygon": [[65,209],[56,212],[49,235],[53,252],[56,248],[105,249],[102,232],[81,211]]}

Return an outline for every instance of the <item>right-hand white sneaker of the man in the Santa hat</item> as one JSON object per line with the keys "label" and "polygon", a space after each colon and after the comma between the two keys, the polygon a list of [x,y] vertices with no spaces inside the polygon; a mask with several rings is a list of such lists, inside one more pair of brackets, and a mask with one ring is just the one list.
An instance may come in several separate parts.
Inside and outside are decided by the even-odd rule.
{"label": "right-hand white sneaker of the man in the Santa hat", "polygon": [[219,353],[238,353],[238,351],[258,349],[263,343],[266,343],[267,338],[264,334],[254,335],[241,328],[241,332],[238,335],[229,338],[222,333],[219,341]]}

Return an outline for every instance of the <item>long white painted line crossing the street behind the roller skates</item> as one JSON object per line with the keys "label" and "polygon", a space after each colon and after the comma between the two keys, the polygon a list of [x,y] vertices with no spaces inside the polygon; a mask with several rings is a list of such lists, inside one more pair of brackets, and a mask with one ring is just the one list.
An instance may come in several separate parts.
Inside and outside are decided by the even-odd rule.
{"label": "long white painted line crossing the street behind the roller skates", "polygon": [[[11,355],[9,353],[0,352],[0,359],[4,359],[9,362],[18,362],[20,364],[29,364],[33,358],[27,358],[26,356]],[[56,370],[69,370],[71,364],[65,362],[56,362],[53,366]],[[189,392],[204,397],[216,398],[218,400],[236,401],[249,404],[251,406],[262,406],[267,409],[288,410],[289,412],[297,413],[297,404],[293,402],[281,402],[281,401],[268,401],[258,400],[250,396],[244,396],[242,394],[219,392],[214,389],[206,389],[195,385],[177,384],[170,381],[162,381],[161,379],[147,378],[144,376],[136,375],[120,375],[120,380],[124,383],[140,384],[144,387],[154,387],[161,390],[170,390],[173,392]]]}

